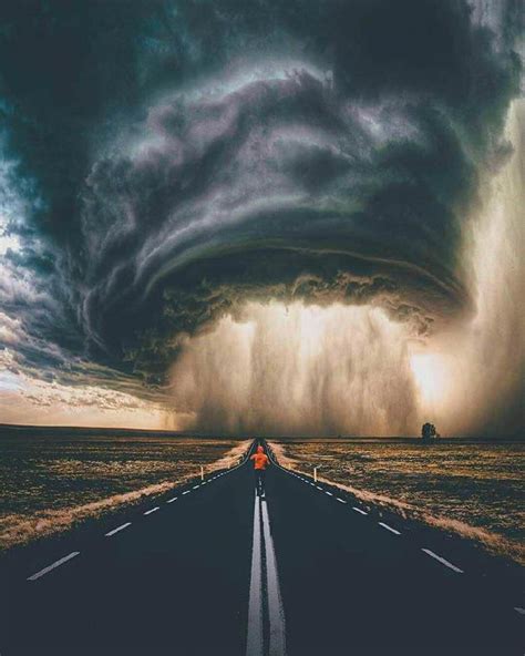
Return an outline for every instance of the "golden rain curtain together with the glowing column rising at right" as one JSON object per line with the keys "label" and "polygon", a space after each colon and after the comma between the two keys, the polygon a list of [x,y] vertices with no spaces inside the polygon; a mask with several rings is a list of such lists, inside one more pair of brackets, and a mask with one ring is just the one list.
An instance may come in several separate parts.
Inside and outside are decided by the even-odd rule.
{"label": "golden rain curtain together with the glowing column rising at right", "polygon": [[199,428],[274,434],[444,434],[498,424],[502,397],[523,385],[524,191],[519,126],[514,153],[487,182],[465,238],[476,296],[473,317],[421,338],[379,308],[248,304],[183,341],[172,370],[176,408]]}

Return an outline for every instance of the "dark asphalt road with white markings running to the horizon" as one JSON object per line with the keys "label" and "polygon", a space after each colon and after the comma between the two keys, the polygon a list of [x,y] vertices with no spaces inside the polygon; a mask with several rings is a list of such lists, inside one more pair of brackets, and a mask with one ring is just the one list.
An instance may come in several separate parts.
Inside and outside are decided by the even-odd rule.
{"label": "dark asphalt road with white markings running to the horizon", "polygon": [[522,571],[249,463],[0,562],[1,656],[525,653]]}

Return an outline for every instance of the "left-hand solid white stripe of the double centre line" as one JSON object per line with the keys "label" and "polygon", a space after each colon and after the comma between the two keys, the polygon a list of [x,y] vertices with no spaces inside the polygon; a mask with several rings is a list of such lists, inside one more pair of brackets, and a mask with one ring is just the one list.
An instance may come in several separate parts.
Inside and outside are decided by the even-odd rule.
{"label": "left-hand solid white stripe of the double centre line", "polygon": [[262,582],[260,558],[260,504],[255,495],[254,540],[251,543],[251,573],[248,602],[248,637],[246,656],[262,656]]}

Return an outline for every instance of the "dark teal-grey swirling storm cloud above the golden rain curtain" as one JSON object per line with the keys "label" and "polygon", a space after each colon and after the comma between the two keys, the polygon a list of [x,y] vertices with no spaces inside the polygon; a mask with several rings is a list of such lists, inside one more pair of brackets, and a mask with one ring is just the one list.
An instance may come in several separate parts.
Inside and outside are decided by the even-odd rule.
{"label": "dark teal-grey swirling storm cloud above the golden rain curtain", "polygon": [[10,369],[158,401],[188,336],[249,303],[379,308],[416,340],[471,320],[465,233],[513,153],[521,16],[514,0],[3,3]]}

